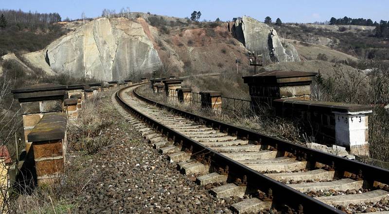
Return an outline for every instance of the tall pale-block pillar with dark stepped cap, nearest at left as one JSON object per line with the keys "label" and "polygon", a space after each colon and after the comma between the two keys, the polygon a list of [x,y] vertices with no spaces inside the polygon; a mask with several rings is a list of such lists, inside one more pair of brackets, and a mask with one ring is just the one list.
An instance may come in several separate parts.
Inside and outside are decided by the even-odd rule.
{"label": "tall pale-block pillar with dark stepped cap, nearest at left", "polygon": [[43,115],[51,112],[63,112],[66,86],[50,83],[37,84],[21,89],[14,89],[14,98],[18,99],[23,115],[24,139],[26,152],[29,153],[31,141],[28,134]]}

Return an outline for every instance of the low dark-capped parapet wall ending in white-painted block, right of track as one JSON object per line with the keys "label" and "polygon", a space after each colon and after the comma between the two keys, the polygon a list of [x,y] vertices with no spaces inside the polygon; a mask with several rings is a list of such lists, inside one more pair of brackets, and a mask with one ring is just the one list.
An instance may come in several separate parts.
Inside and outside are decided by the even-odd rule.
{"label": "low dark-capped parapet wall ending in white-painted block, right of track", "polygon": [[273,101],[281,117],[296,118],[323,143],[344,146],[351,154],[369,156],[370,106],[277,99]]}

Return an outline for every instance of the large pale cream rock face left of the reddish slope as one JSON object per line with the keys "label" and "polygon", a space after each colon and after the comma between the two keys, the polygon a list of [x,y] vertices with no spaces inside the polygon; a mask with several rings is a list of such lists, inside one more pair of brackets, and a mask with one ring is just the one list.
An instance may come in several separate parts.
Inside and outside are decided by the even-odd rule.
{"label": "large pale cream rock face left of the reddish slope", "polygon": [[124,79],[132,71],[151,72],[161,65],[142,25],[127,18],[95,19],[25,57],[48,73],[106,81]]}

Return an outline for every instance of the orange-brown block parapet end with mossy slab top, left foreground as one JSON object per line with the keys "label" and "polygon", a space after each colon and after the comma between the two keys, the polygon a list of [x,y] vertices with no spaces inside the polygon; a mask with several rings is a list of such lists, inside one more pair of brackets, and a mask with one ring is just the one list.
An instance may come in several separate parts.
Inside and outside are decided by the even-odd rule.
{"label": "orange-brown block parapet end with mossy slab top, left foreground", "polygon": [[43,116],[27,138],[32,143],[38,186],[53,183],[63,172],[66,157],[66,115],[49,113]]}

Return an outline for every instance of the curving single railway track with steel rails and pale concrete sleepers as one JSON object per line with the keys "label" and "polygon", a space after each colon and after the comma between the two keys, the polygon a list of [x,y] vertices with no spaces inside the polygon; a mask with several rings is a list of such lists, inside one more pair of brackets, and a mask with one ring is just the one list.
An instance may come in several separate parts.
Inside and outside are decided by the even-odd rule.
{"label": "curving single railway track with steel rails and pale concrete sleepers", "polygon": [[[350,204],[389,199],[388,170],[166,107],[139,95],[137,87],[115,94],[124,118],[178,170],[214,186],[213,196],[248,196],[231,204],[235,213],[344,213]],[[328,191],[336,194],[311,197]]]}

